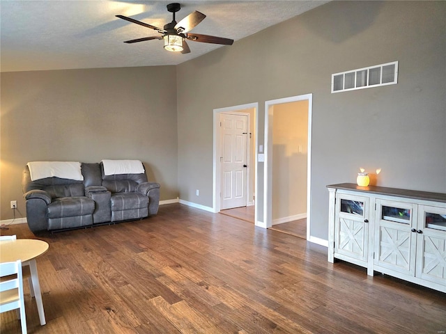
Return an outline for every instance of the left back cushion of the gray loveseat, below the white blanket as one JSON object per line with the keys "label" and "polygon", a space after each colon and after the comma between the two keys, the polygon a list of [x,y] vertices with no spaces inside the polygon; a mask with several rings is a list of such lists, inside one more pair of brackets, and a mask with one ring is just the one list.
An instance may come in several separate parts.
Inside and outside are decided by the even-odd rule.
{"label": "left back cushion of the gray loveseat, below the white blanket", "polygon": [[34,189],[47,191],[51,198],[84,196],[83,181],[61,179],[60,177],[46,177],[31,181],[29,168],[26,166],[22,174],[23,193]]}

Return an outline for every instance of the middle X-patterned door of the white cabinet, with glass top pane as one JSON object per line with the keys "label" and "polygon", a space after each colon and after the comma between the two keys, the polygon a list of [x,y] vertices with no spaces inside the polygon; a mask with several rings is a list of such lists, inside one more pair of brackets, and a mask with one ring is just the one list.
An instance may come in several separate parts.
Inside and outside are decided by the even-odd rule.
{"label": "middle X-patterned door of the white cabinet, with glass top pane", "polygon": [[415,276],[417,205],[376,200],[375,257],[379,267]]}

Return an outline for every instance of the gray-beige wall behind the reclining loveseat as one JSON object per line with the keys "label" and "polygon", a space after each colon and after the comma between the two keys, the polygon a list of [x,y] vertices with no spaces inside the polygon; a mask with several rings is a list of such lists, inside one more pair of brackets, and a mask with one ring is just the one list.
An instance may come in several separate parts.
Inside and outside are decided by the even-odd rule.
{"label": "gray-beige wall behind the reclining loveseat", "polygon": [[139,159],[177,198],[176,67],[1,73],[1,220],[28,161]]}

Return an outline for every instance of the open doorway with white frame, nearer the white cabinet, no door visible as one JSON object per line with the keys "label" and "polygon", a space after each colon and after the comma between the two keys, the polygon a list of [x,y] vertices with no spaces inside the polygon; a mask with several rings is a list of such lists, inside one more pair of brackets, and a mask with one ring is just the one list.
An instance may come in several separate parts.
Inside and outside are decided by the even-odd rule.
{"label": "open doorway with white frame, nearer the white cabinet, no door visible", "polygon": [[311,124],[312,94],[265,103],[266,227],[305,239],[311,226]]}

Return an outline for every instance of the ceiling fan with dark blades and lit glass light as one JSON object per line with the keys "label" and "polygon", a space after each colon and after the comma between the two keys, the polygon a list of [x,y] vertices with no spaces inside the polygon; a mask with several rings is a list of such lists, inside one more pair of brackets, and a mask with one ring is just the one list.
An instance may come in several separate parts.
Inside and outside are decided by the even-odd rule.
{"label": "ceiling fan with dark blades and lit glass light", "polygon": [[146,28],[150,28],[159,33],[162,33],[162,35],[160,36],[137,38],[136,40],[126,40],[125,43],[144,42],[145,40],[164,40],[164,49],[167,49],[168,51],[181,52],[182,54],[190,53],[190,49],[187,45],[186,40],[192,40],[194,42],[202,43],[232,45],[233,40],[229,38],[202,35],[199,33],[189,33],[189,31],[194,29],[197,24],[203,21],[206,15],[195,10],[194,13],[187,15],[184,19],[180,20],[180,22],[177,23],[175,20],[175,13],[178,12],[178,10],[180,9],[180,3],[169,3],[169,5],[167,5],[167,10],[170,13],[173,13],[174,19],[172,19],[172,22],[166,24],[164,26],[164,29],[158,28],[157,26],[152,26],[151,24],[146,24],[136,19],[132,19],[131,17],[116,15],[116,17],[119,17],[120,19],[125,19],[128,22],[136,23],[140,26],[145,26]]}

